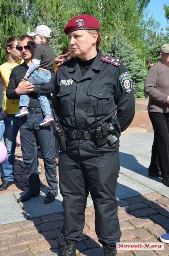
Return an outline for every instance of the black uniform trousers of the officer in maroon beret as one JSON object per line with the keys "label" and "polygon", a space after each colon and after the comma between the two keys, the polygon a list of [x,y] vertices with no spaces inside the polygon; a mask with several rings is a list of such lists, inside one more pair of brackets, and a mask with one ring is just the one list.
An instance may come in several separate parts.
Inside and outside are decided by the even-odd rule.
{"label": "black uniform trousers of the officer in maroon beret", "polygon": [[95,207],[95,229],[99,242],[115,246],[120,241],[118,205],[115,197],[119,174],[119,151],[99,157],[59,153],[59,188],[63,196],[64,226],[60,237],[79,242],[85,222],[89,191]]}

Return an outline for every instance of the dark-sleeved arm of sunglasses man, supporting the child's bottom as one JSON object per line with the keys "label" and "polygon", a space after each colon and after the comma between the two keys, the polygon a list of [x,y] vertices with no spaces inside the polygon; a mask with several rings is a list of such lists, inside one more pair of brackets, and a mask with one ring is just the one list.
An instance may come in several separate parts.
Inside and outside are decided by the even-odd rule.
{"label": "dark-sleeved arm of sunglasses man, supporting the child's bottom", "polygon": [[52,67],[51,71],[51,81],[50,83],[42,84],[42,85],[36,85],[34,87],[34,92],[39,94],[39,93],[53,93],[54,89],[54,79],[55,79],[55,72]]}

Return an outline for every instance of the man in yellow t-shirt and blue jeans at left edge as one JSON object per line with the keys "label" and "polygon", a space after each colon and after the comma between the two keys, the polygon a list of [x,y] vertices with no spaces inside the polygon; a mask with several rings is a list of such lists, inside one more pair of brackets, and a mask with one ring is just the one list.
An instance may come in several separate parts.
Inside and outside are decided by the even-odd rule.
{"label": "man in yellow t-shirt and blue jeans at left edge", "polygon": [[[20,59],[21,53],[16,49],[18,44],[18,37],[10,37],[5,42],[5,50],[8,55],[7,62],[0,66],[0,71],[8,86],[9,76],[14,67],[18,64],[22,64]],[[15,148],[16,148],[16,136],[19,130],[18,118],[15,117],[15,113],[19,110],[19,100],[7,99],[6,93],[4,93],[4,105],[5,113],[7,117],[4,118],[5,132],[4,142],[7,147],[7,158],[3,162],[3,182],[0,185],[0,191],[7,189],[14,183],[14,161],[15,161]]]}

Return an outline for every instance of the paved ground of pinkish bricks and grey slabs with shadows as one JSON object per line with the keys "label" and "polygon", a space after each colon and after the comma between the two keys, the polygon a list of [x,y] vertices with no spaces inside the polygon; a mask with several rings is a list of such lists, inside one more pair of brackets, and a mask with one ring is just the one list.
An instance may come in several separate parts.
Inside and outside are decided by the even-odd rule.
{"label": "paved ground of pinkish bricks and grey slabs with shadows", "polygon": [[[120,138],[121,169],[118,179],[119,190],[116,196],[119,199],[121,241],[159,242],[161,234],[169,232],[169,189],[162,184],[160,178],[147,176],[153,135],[135,133],[122,135]],[[139,148],[139,143],[145,144],[145,150],[142,150],[142,146]],[[16,202],[20,193],[25,193],[24,191],[28,189],[28,181],[20,147],[16,148],[15,154],[15,184],[6,191],[0,192],[0,223],[3,222],[0,225],[0,256],[61,255],[64,247],[59,233],[63,225],[63,214],[61,208],[59,212],[56,212],[55,204],[53,206],[51,204],[49,207],[51,210],[43,212],[45,208],[42,206],[42,201],[46,193],[47,182],[41,155],[39,153],[41,196],[39,196],[37,205],[39,210],[36,213],[33,211],[35,205],[29,210],[30,204],[21,205]],[[0,174],[2,177],[1,164]],[[31,200],[33,204],[34,199]],[[59,204],[61,200],[58,199]],[[6,212],[3,208],[4,202],[7,202]],[[103,256],[103,248],[95,232],[95,210],[90,197],[88,202],[82,240],[77,245],[77,256]],[[35,215],[31,215],[32,211]],[[165,249],[162,251],[118,250],[118,256],[132,255],[169,256],[169,246],[165,244]]]}

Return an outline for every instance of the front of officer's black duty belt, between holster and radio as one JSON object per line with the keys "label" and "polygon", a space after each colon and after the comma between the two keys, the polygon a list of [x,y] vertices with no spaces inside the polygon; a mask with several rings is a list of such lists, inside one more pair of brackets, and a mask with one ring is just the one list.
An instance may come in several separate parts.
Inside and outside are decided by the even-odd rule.
{"label": "front of officer's black duty belt, between holster and radio", "polygon": [[91,130],[70,130],[68,128],[64,128],[64,132],[66,137],[72,140],[88,140],[92,139],[92,131]]}

